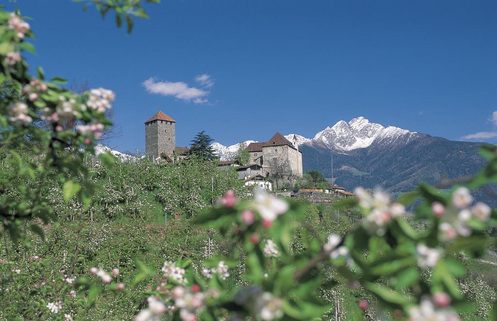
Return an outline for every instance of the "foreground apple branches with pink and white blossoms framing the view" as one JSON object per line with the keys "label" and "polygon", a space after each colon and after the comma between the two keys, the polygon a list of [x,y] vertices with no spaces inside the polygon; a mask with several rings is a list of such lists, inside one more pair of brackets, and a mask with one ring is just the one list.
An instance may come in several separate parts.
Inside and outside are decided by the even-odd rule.
{"label": "foreground apple branches with pink and white blossoms framing the view", "polygon": [[[103,15],[115,10],[117,25],[124,17],[128,30],[131,16],[145,17],[140,0],[86,2]],[[7,161],[2,166],[15,169],[0,186],[6,253],[0,260],[1,302],[23,302],[18,315],[25,319],[84,319],[99,297],[138,291],[125,288],[118,268],[107,272],[92,267],[86,275],[74,270],[96,188],[83,156],[94,153],[94,142],[110,125],[105,111],[114,93],[98,88],[77,95],[59,85],[61,78],[46,80],[41,68],[30,75],[22,56],[34,52],[27,41],[33,37],[29,23],[19,12],[0,9],[0,25],[0,154]],[[450,190],[420,184],[392,200],[380,189],[371,195],[358,188],[356,198],[334,205],[360,209],[359,224],[343,235],[318,233],[306,221],[302,202],[287,202],[262,190],[255,191],[253,200],[241,201],[229,190],[215,206],[206,206],[196,223],[240,246],[228,249],[227,257],[211,256],[197,265],[201,269],[185,257],[167,259],[159,274],[137,262],[140,272],[133,286],[150,277],[157,286],[143,293],[136,320],[312,320],[332,309],[320,290],[335,286],[364,289],[369,296],[357,300],[361,310],[374,305],[394,319],[459,320],[473,307],[464,295],[469,286],[461,289],[456,281],[466,273],[458,255],[482,256],[488,231],[497,223],[497,211],[475,202],[471,190],[497,181],[496,153],[495,146],[483,146],[482,155],[489,160],[485,168],[464,182],[449,182]],[[106,156],[102,162],[113,160]],[[23,287],[19,281],[39,276],[44,260],[34,255],[26,271],[14,268],[7,237],[29,247],[32,232],[44,235],[41,222],[57,220],[42,192],[53,185],[47,182],[60,185],[65,202],[78,204],[77,219],[70,225],[76,248],[67,270]],[[406,206],[414,207],[412,217]],[[414,228],[413,222],[422,224]],[[296,238],[303,248],[296,248]],[[240,262],[243,285],[229,287],[226,281]],[[67,306],[76,308],[69,313]]]}

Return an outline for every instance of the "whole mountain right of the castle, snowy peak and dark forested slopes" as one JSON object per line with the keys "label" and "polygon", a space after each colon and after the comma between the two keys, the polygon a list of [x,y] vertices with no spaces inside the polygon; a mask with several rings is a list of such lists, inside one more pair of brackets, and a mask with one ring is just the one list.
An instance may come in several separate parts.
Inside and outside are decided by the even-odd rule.
{"label": "whole mountain right of the castle, snowy peak and dark forested slopes", "polygon": [[[285,137],[291,141],[293,135]],[[485,164],[478,153],[481,143],[385,127],[364,117],[340,120],[313,138],[298,135],[297,139],[304,172],[319,170],[330,182],[348,189],[382,186],[406,192],[420,181],[434,184],[476,174]]]}

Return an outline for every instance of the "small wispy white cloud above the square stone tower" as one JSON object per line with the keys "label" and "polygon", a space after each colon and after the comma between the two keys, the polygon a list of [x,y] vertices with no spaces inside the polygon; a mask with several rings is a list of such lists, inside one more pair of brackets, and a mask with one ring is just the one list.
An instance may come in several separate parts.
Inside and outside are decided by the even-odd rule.
{"label": "small wispy white cloud above the square stone tower", "polygon": [[196,104],[207,104],[209,100],[205,98],[209,95],[208,88],[214,85],[214,81],[210,79],[209,75],[200,75],[195,77],[195,81],[203,85],[202,88],[190,87],[187,83],[182,81],[159,81],[156,78],[149,78],[142,84],[150,93],[155,93],[163,96],[173,96],[177,99],[185,101],[192,101]]}

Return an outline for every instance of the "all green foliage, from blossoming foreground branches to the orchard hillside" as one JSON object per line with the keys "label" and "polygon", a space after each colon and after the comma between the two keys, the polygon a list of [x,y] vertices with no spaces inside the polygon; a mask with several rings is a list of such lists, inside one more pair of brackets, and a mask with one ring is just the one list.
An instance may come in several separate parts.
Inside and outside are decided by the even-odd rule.
{"label": "all green foliage, from blossoming foreground branches to the orchard hillside", "polygon": [[[141,2],[87,4],[102,16],[115,10],[129,32],[131,16],[146,17]],[[34,52],[29,25],[1,10],[0,25],[2,319],[495,316],[495,289],[467,267],[486,254],[497,211],[473,205],[468,189],[420,184],[398,202],[361,189],[333,206],[287,202],[219,170],[205,132],[189,160],[104,155],[95,165],[114,94],[77,95],[41,68],[35,79],[20,56]],[[470,188],[497,181],[496,152],[483,147],[488,163]],[[318,171],[302,180],[325,183]],[[413,215],[401,203],[414,204]]]}

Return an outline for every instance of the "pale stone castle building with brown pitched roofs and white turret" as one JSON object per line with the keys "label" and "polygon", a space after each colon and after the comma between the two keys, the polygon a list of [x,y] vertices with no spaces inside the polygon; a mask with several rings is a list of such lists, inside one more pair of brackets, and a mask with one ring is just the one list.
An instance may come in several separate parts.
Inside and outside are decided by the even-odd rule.
{"label": "pale stone castle building with brown pitched roofs and white turret", "polygon": [[250,143],[247,146],[250,153],[250,163],[262,166],[262,172],[267,176],[271,171],[281,170],[287,175],[302,176],[302,152],[299,151],[297,137],[292,142],[280,133],[267,142]]}

